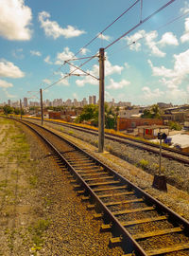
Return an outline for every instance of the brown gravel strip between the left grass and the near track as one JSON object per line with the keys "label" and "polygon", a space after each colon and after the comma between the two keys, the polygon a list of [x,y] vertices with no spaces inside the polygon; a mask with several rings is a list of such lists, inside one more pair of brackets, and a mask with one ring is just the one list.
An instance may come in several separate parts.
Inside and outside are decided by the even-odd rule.
{"label": "brown gravel strip between the left grass and the near track", "polygon": [[112,234],[99,232],[102,222],[94,220],[94,212],[83,206],[66,174],[52,161],[48,149],[39,139],[34,139],[27,128],[21,127],[26,133],[31,157],[40,159],[38,190],[39,200],[44,203],[39,211],[50,223],[45,232],[43,249],[38,255],[122,255],[120,247],[108,247]]}

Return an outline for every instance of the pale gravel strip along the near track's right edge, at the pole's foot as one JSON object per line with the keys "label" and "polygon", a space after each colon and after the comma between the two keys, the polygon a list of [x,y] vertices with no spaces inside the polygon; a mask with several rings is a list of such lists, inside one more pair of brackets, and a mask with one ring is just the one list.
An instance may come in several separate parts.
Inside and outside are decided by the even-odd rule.
{"label": "pale gravel strip along the near track's right edge, at the pole's foot", "polygon": [[[54,131],[56,131],[60,136],[67,137],[77,145],[81,146],[83,149],[88,151],[90,154],[94,155],[95,157],[99,158],[105,164],[108,164],[112,169],[117,171],[118,173],[124,175],[129,181],[133,182],[140,188],[144,189],[146,192],[149,192],[152,196],[162,201],[167,207],[171,208],[178,212],[181,216],[189,220],[189,194],[188,192],[183,192],[178,190],[177,188],[167,185],[168,192],[159,192],[151,187],[153,182],[153,175],[144,172],[141,168],[138,168],[128,161],[121,159],[115,155],[112,155],[108,152],[104,154],[97,153],[97,148],[89,143],[85,142],[85,140],[91,140],[94,143],[94,138],[91,135],[83,135],[83,133],[73,131],[73,129],[61,128],[59,125],[55,124],[45,124],[47,128],[51,127]],[[79,137],[81,139],[77,138]],[[75,136],[75,137],[73,137]],[[93,137],[93,138],[92,138]],[[97,143],[97,142],[96,142]],[[120,145],[119,145],[120,148]],[[133,153],[135,155],[135,152]],[[139,155],[138,155],[139,157]],[[166,159],[165,159],[166,160]],[[171,163],[169,161],[169,163]],[[180,171],[183,166],[181,165]],[[188,168],[185,167],[185,172],[188,172]],[[188,177],[187,177],[188,178]]]}

